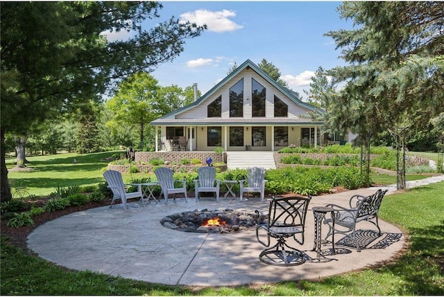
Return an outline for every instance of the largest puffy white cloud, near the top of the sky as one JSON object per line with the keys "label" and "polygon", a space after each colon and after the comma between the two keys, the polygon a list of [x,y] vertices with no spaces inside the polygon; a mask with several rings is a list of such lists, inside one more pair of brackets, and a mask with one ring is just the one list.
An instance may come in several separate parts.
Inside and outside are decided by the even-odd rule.
{"label": "largest puffy white cloud, near the top of the sky", "polygon": [[207,30],[216,33],[230,32],[244,28],[228,19],[229,17],[236,17],[236,13],[224,9],[215,12],[210,10],[196,10],[194,12],[185,12],[180,15],[182,21],[191,21],[191,23],[196,23],[198,26],[206,24]]}

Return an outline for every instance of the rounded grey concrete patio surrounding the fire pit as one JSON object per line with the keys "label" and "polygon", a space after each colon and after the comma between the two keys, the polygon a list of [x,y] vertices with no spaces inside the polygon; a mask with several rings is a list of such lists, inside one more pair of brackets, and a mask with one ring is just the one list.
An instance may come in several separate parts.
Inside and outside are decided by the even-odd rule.
{"label": "rounded grey concrete patio surrounding the fire pit", "polygon": [[[440,180],[443,180],[442,178]],[[422,182],[424,183],[424,182]],[[393,186],[382,187],[395,192]],[[311,208],[327,203],[346,205],[359,193],[373,194],[377,188],[352,190],[333,195],[313,197],[309,205],[305,228],[305,244],[299,246],[307,262],[295,267],[275,267],[259,261],[264,249],[254,231],[231,234],[184,233],[165,228],[160,219],[186,210],[232,208],[268,210],[268,201],[259,198],[239,199],[180,198],[164,204],[151,201],[144,208],[138,202],[94,208],[60,217],[48,222],[28,236],[28,247],[40,257],[69,269],[100,271],[112,276],[160,282],[167,285],[223,286],[282,280],[318,279],[338,273],[363,269],[388,260],[404,244],[404,235],[382,220],[382,236],[375,237],[375,226],[364,222],[369,235],[366,248],[360,253],[350,246],[338,246],[338,255],[329,254],[331,245],[322,246],[325,258],[316,258],[314,246],[314,216]],[[385,198],[384,198],[385,199]],[[325,225],[324,225],[325,226]],[[369,231],[371,230],[371,231]],[[323,228],[323,234],[327,230]],[[341,236],[335,238],[335,242]],[[333,259],[333,260],[332,260]]]}

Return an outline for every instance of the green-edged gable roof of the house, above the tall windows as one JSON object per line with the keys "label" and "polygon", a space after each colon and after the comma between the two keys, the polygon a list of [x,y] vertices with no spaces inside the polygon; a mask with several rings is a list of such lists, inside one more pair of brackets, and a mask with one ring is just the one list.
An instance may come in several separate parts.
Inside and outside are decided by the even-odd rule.
{"label": "green-edged gable roof of the house, above the tall windows", "polygon": [[[307,109],[309,109],[311,111],[318,111],[318,112],[323,113],[322,109],[319,109],[318,107],[314,107],[313,105],[310,105],[308,103],[302,102],[299,99],[299,97],[298,97],[298,93],[296,93],[295,91],[292,91],[290,89],[287,89],[285,87],[282,87],[280,84],[278,84],[278,82],[273,80],[273,78],[271,78],[270,75],[268,75],[265,71],[260,69],[255,63],[251,62],[251,60],[248,59],[244,63],[239,65],[239,67],[237,67],[237,69],[234,69],[234,71],[232,71],[230,74],[228,74],[218,84],[216,84],[214,87],[212,87],[212,89],[210,89],[210,91],[207,91],[207,93],[205,93],[203,96],[200,96],[200,98],[198,98],[198,100],[192,102],[189,105],[186,105],[185,107],[181,107],[180,109],[176,109],[175,111],[172,111],[169,114],[161,116],[160,118],[157,118],[157,120],[162,121],[162,119],[164,119],[164,118],[169,118],[171,116],[176,116],[177,114],[180,114],[183,111],[187,111],[189,109],[192,109],[192,108],[200,105],[201,102],[205,101],[205,99],[207,99],[208,97],[212,96],[216,91],[221,89],[221,87],[223,87],[234,76],[236,76],[237,74],[241,73],[241,71],[244,71],[244,69],[252,69],[253,71],[255,71],[258,75],[262,76],[262,78],[264,78],[264,80],[266,80],[268,83],[273,85],[273,87],[275,87],[276,89],[278,89],[279,91],[284,93],[284,95],[286,95],[291,101],[296,103],[296,105],[300,105],[300,106],[305,107],[305,108],[307,108]],[[151,125],[155,125],[157,120],[153,120],[151,122]]]}

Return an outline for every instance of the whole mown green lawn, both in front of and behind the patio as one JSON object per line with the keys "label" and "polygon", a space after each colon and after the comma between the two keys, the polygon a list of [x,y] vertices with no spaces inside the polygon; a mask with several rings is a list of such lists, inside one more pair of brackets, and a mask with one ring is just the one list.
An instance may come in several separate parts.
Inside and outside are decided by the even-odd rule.
{"label": "whole mown green lawn, both in front of and behind the patio", "polygon": [[[30,172],[10,172],[17,186],[28,186],[31,194],[49,195],[58,186],[86,180],[103,181],[106,158],[114,152],[31,157]],[[76,158],[77,163],[73,163]],[[12,160],[9,160],[12,163]],[[78,166],[77,168],[75,166]],[[71,173],[69,173],[71,172]],[[69,174],[68,174],[69,173]],[[137,174],[139,175],[139,174]],[[418,177],[422,177],[419,175]],[[134,174],[133,174],[134,177]],[[126,178],[131,178],[127,174]],[[375,179],[375,177],[372,177]],[[410,177],[408,179],[413,179]],[[395,177],[384,176],[386,183]],[[378,181],[379,183],[379,181]],[[382,183],[382,181],[381,181]],[[410,244],[390,263],[321,280],[301,280],[239,287],[179,287],[91,272],[68,271],[17,249],[1,240],[1,294],[4,295],[442,295],[444,183],[390,195],[383,201],[382,219],[400,226]],[[420,197],[420,199],[418,199]]]}

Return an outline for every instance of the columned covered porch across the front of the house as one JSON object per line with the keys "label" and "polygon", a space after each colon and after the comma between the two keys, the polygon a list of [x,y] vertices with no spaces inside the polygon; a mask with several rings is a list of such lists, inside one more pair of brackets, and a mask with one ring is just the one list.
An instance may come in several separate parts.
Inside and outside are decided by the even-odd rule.
{"label": "columned covered porch across the front of the house", "polygon": [[275,152],[284,147],[317,147],[328,141],[321,125],[162,125],[155,126],[155,151]]}

